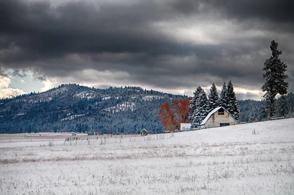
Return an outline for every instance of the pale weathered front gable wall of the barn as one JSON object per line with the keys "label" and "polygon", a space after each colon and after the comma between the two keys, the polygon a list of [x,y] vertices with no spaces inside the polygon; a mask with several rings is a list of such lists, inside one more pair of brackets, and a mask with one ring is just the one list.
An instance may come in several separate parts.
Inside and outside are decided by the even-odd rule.
{"label": "pale weathered front gable wall of the barn", "polygon": [[220,123],[229,122],[230,125],[238,124],[238,122],[224,110],[224,115],[219,115],[218,111],[211,115],[208,121],[205,123],[205,128],[218,127]]}

